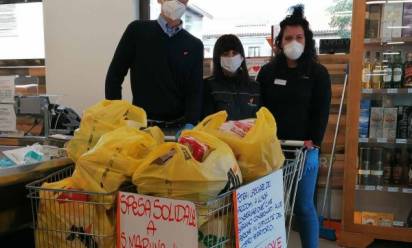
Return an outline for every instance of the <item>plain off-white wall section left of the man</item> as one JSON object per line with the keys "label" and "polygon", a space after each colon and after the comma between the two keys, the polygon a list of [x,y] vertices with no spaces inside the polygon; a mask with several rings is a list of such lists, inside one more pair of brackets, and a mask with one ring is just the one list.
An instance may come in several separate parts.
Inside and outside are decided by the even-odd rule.
{"label": "plain off-white wall section left of the man", "polygon": [[[139,0],[44,0],[47,94],[81,113],[104,99],[106,73]],[[131,101],[129,76],[123,99]]]}

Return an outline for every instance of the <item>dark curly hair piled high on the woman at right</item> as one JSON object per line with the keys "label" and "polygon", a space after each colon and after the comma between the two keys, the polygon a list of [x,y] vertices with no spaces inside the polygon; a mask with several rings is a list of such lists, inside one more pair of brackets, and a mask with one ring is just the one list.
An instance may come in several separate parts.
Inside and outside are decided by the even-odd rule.
{"label": "dark curly hair piled high on the woman at right", "polygon": [[313,32],[309,28],[309,22],[304,16],[304,6],[298,4],[292,6],[292,14],[286,16],[283,21],[280,22],[280,32],[275,39],[275,45],[278,49],[277,57],[285,60],[285,55],[282,52],[281,43],[283,39],[283,34],[287,26],[301,26],[305,33],[305,50],[303,51],[302,56],[298,59],[298,64],[307,63],[310,61],[317,61],[315,40],[313,39]]}

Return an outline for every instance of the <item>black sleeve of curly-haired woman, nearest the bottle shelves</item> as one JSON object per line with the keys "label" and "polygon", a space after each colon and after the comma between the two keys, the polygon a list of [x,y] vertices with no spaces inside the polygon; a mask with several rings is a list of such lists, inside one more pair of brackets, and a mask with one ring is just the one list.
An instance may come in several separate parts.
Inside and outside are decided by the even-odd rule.
{"label": "black sleeve of curly-haired woman, nearest the bottle shelves", "polygon": [[312,93],[309,132],[313,143],[320,146],[329,120],[332,90],[329,73],[324,66],[320,65],[314,76],[316,81]]}

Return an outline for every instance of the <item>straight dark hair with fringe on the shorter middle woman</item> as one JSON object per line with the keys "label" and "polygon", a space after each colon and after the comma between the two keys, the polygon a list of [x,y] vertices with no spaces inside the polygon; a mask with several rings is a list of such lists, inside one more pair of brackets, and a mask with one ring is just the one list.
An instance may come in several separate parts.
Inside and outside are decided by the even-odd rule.
{"label": "straight dark hair with fringe on the shorter middle woman", "polygon": [[230,50],[238,52],[244,58],[242,65],[240,66],[237,73],[242,80],[249,80],[249,73],[246,67],[245,51],[243,50],[242,42],[240,42],[239,38],[233,34],[222,35],[216,41],[215,47],[213,49],[213,76],[216,79],[224,78],[222,66],[220,64],[220,57],[224,52]]}

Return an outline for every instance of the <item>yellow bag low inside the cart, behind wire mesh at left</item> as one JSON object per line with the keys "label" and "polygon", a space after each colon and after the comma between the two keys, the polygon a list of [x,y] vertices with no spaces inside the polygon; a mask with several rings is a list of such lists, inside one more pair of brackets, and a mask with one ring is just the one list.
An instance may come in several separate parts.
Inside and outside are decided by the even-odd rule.
{"label": "yellow bag low inside the cart, behind wire mesh at left", "polygon": [[106,211],[87,194],[72,190],[77,191],[71,178],[42,185],[36,247],[114,247],[114,211]]}

